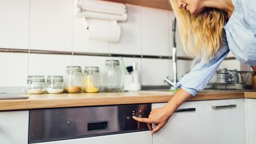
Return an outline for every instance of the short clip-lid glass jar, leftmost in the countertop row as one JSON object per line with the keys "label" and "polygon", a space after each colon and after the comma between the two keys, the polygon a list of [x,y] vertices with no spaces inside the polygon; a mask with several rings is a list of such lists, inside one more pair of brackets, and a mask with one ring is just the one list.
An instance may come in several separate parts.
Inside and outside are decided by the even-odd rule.
{"label": "short clip-lid glass jar, leftmost in the countertop row", "polygon": [[28,76],[28,94],[43,94],[45,92],[45,76]]}

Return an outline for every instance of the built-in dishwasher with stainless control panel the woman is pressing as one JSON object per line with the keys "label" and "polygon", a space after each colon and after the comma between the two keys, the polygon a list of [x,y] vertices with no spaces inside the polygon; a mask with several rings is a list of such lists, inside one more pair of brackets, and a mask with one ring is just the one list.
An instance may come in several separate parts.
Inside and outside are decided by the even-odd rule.
{"label": "built-in dishwasher with stainless control panel the woman is pressing", "polygon": [[28,143],[152,143],[145,123],[151,104],[30,110]]}

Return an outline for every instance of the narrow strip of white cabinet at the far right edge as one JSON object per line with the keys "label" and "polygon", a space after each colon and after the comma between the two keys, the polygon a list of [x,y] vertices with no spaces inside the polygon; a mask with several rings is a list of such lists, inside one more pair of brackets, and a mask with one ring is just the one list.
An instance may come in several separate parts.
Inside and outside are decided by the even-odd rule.
{"label": "narrow strip of white cabinet at the far right edge", "polygon": [[256,143],[256,99],[246,99],[247,144]]}

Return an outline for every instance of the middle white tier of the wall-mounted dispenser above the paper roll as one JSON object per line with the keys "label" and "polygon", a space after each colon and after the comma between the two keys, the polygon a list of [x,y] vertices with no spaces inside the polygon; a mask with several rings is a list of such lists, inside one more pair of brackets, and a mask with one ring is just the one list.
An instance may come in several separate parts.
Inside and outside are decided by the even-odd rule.
{"label": "middle white tier of the wall-mounted dispenser above the paper roll", "polygon": [[91,11],[91,12],[103,12],[107,14],[117,14],[123,15],[126,13],[126,9],[123,8],[115,8],[115,7],[108,7],[104,5],[87,5],[86,3],[78,3],[78,6],[83,10]]}

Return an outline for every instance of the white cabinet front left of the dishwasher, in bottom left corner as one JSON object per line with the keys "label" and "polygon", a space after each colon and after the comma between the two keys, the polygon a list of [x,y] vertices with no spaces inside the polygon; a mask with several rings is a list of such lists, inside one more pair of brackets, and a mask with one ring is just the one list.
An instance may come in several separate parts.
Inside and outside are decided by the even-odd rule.
{"label": "white cabinet front left of the dishwasher, in bottom left corner", "polygon": [[28,111],[0,112],[0,143],[28,143]]}

